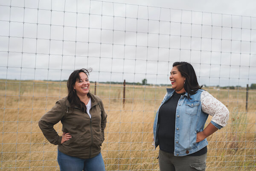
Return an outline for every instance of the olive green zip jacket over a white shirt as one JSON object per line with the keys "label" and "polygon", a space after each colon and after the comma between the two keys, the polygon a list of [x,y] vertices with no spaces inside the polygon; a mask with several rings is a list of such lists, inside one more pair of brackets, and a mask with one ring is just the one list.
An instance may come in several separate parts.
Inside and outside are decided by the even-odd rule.
{"label": "olive green zip jacket over a white shirt", "polygon": [[[58,150],[64,154],[81,159],[95,157],[101,151],[104,141],[104,129],[107,122],[107,114],[102,100],[90,93],[91,119],[78,107],[73,109],[67,97],[59,99],[38,122],[38,125],[47,140],[58,145]],[[61,144],[61,136],[53,128],[59,121],[62,123],[62,131],[70,133],[71,139]]]}

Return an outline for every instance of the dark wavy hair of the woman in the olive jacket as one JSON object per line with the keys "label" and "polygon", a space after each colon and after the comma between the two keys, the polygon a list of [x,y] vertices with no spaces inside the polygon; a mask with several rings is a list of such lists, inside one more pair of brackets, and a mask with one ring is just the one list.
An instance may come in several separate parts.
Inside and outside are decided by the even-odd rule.
{"label": "dark wavy hair of the woman in the olive jacket", "polygon": [[[91,72],[92,69],[80,69],[80,70],[74,70],[68,80],[67,80],[67,100],[70,102],[70,105],[72,108],[75,106],[79,107],[82,111],[86,111],[86,105],[79,99],[79,97],[76,95],[76,90],[74,90],[74,85],[76,84],[76,81],[80,79],[79,73],[84,72],[89,77],[89,72]],[[90,97],[90,94],[87,94],[88,97]]]}

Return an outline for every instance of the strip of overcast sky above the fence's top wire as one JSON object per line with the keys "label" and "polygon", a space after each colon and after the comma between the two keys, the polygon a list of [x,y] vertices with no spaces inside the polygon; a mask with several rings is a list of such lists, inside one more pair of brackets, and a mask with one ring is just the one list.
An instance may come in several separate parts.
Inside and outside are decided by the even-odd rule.
{"label": "strip of overcast sky above the fence's top wire", "polygon": [[255,0],[105,0],[171,9],[256,17]]}

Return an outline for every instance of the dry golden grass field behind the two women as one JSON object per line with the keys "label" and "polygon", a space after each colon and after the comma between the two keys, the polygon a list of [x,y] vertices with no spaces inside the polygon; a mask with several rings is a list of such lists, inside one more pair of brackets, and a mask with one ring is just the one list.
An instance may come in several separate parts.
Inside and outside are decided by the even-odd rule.
{"label": "dry golden grass field behind the two women", "polygon": [[[94,93],[94,83],[90,85]],[[206,88],[230,110],[227,127],[209,136],[207,171],[256,170],[256,91]],[[152,144],[154,115],[166,87],[99,84],[96,95],[108,113],[102,156],[107,171],[159,171]],[[0,80],[1,171],[57,171],[57,146],[38,128],[38,120],[67,95],[66,82]],[[211,119],[209,116],[208,123]],[[55,125],[61,134],[61,124]]]}

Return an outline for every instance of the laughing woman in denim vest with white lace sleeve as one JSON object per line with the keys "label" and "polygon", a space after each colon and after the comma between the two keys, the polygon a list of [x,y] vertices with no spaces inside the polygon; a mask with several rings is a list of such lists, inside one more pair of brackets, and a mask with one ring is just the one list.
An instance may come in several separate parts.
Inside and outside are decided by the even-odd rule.
{"label": "laughing woman in denim vest with white lace sleeve", "polygon": [[[154,120],[160,171],[205,171],[206,138],[227,125],[229,111],[201,89],[191,64],[175,62],[172,67],[172,89],[167,89]],[[204,128],[209,115],[211,122]]]}

